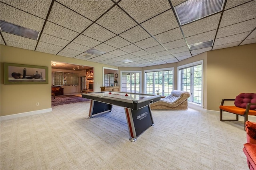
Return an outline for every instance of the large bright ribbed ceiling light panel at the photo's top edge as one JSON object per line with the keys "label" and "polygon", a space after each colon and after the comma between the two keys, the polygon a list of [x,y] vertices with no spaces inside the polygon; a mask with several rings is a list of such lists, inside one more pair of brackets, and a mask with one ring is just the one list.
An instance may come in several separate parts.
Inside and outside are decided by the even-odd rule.
{"label": "large bright ribbed ceiling light panel at the photo's top edge", "polygon": [[223,8],[224,0],[188,0],[174,7],[180,25],[204,18]]}

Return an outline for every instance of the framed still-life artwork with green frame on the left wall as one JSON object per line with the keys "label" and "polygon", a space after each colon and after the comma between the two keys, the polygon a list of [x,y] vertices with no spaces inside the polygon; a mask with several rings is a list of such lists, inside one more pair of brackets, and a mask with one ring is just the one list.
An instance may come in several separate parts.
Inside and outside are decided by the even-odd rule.
{"label": "framed still-life artwork with green frame on the left wall", "polygon": [[4,63],[4,84],[48,84],[48,67]]}

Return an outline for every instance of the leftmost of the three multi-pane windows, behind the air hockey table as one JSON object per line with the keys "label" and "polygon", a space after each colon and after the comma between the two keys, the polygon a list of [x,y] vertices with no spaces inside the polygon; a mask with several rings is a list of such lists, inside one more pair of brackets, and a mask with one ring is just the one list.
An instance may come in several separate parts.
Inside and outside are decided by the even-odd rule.
{"label": "leftmost of the three multi-pane windows, behind the air hockey table", "polygon": [[121,71],[121,91],[129,93],[140,93],[140,71],[122,72]]}

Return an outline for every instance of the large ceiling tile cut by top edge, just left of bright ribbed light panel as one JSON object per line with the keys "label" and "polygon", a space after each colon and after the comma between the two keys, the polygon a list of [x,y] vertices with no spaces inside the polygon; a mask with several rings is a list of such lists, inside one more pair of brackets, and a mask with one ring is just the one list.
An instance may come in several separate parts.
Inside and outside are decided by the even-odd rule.
{"label": "large ceiling tile cut by top edge, just left of bright ribbed light panel", "polygon": [[118,5],[141,23],[171,8],[168,1],[121,1]]}

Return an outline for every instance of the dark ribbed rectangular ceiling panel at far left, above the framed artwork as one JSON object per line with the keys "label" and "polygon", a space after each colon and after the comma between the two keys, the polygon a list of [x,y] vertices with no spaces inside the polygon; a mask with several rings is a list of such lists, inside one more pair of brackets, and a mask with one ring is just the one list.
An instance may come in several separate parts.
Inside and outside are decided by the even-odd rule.
{"label": "dark ribbed rectangular ceiling panel at far left, above the framed artwork", "polygon": [[30,38],[33,40],[38,40],[39,32],[30,30],[28,28],[24,28],[21,26],[17,26],[15,24],[11,24],[9,22],[5,22],[1,20],[1,31],[8,32],[10,34],[15,34],[17,36],[22,36],[26,38]]}

